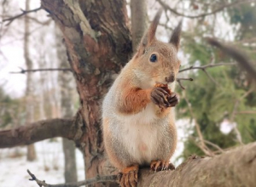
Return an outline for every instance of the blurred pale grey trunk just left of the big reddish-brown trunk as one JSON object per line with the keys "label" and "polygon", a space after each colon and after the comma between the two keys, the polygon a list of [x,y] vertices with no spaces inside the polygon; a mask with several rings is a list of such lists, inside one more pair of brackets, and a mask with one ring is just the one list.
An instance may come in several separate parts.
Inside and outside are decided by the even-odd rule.
{"label": "blurred pale grey trunk just left of the big reddish-brown trunk", "polygon": [[[56,51],[60,68],[68,68],[67,51],[59,28],[55,28]],[[61,117],[73,116],[73,75],[68,71],[61,71],[58,75],[58,82],[61,88]],[[62,139],[62,146],[65,158],[65,182],[78,181],[76,152],[73,140]]]}

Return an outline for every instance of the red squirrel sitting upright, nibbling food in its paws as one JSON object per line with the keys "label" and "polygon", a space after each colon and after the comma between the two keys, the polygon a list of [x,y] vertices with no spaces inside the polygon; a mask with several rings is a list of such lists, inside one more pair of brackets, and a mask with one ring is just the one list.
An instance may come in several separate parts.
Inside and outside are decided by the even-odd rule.
{"label": "red squirrel sitting upright, nibbling food in its paws", "polygon": [[180,66],[181,22],[170,42],[160,42],[155,38],[160,14],[155,15],[137,53],[102,104],[104,146],[109,160],[121,172],[122,187],[137,186],[139,166],[150,166],[154,171],[174,169],[169,163],[177,144],[172,107],[178,99],[167,85],[174,84]]}

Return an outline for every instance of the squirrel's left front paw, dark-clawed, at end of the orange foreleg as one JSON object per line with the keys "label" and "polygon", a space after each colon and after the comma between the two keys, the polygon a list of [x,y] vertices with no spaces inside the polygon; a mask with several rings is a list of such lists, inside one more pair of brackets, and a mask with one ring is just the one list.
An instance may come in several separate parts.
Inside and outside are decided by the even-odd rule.
{"label": "squirrel's left front paw, dark-clawed, at end of the orange foreleg", "polygon": [[155,105],[159,105],[160,108],[171,106],[167,99],[169,97],[170,95],[166,92],[166,90],[160,87],[153,88],[150,94],[150,99],[152,102]]}

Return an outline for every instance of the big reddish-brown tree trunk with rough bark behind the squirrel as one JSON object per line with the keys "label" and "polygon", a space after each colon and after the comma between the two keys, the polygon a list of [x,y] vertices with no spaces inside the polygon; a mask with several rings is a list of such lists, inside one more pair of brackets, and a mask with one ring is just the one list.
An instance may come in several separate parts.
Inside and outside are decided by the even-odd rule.
{"label": "big reddish-brown tree trunk with rough bark behind the squirrel", "polygon": [[42,6],[61,28],[77,82],[85,127],[78,146],[84,152],[86,178],[108,174],[100,111],[113,74],[131,54],[125,1],[42,0]]}

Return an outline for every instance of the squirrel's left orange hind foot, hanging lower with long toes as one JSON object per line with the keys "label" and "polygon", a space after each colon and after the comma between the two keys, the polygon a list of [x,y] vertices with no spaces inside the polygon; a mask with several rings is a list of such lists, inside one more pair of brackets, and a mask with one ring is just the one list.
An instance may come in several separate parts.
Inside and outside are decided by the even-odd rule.
{"label": "squirrel's left orange hind foot, hanging lower with long toes", "polygon": [[137,186],[137,173],[138,165],[125,167],[122,170],[119,184],[121,187],[136,187]]}

